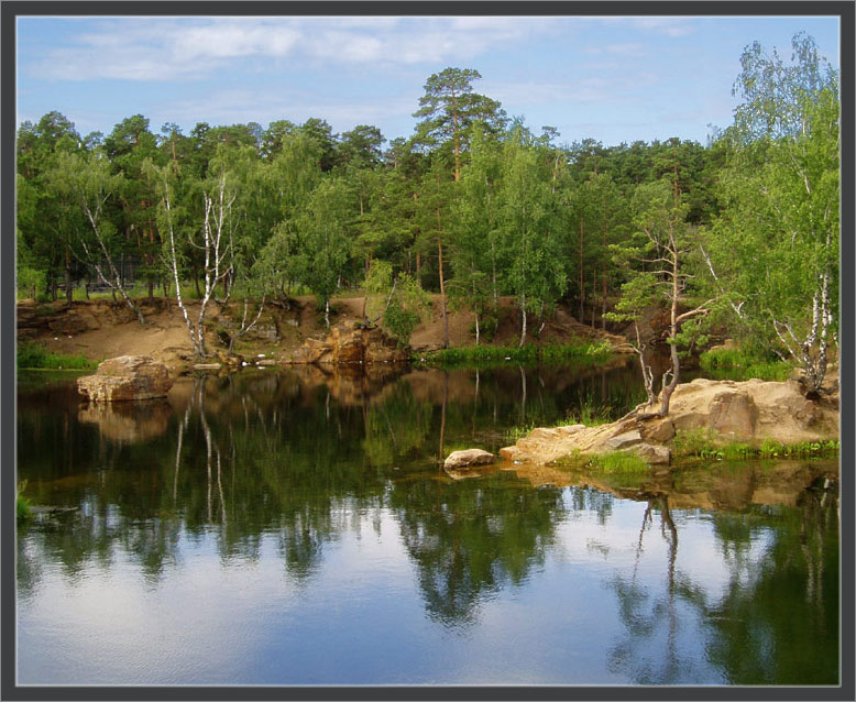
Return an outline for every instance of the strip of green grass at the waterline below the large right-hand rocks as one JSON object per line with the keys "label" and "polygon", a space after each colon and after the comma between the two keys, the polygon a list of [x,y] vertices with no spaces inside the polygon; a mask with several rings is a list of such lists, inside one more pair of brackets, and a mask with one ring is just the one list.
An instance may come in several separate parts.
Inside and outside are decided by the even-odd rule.
{"label": "strip of green grass at the waterline below the large right-hand rocks", "polygon": [[760,445],[743,441],[720,443],[711,431],[703,429],[678,431],[672,440],[672,458],[676,459],[742,461],[769,458],[832,458],[837,456],[839,450],[841,442],[835,440],[781,443],[773,439],[765,439]]}

